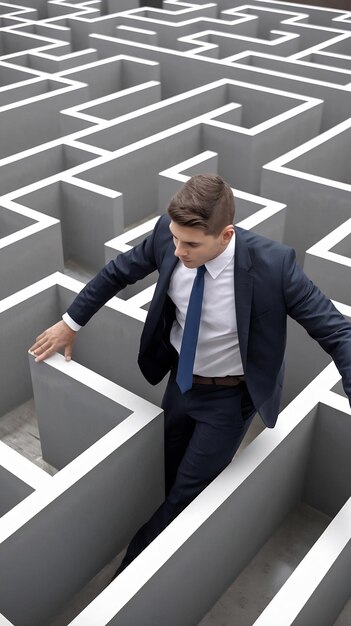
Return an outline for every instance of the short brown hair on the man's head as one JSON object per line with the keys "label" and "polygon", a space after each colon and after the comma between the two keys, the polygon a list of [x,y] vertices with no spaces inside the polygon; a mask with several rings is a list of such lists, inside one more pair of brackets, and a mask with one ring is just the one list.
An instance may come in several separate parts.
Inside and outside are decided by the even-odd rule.
{"label": "short brown hair on the man's head", "polygon": [[235,205],[231,187],[217,174],[192,176],[171,199],[168,215],[179,226],[201,228],[218,236],[233,224]]}

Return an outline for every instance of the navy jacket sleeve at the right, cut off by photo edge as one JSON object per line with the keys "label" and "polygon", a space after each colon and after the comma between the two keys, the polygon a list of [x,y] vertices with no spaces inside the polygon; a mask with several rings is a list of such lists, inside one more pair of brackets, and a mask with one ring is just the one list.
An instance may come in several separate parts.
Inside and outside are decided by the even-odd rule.
{"label": "navy jacket sleeve at the right, cut off by photo edge", "polygon": [[288,314],[330,354],[351,406],[351,324],[304,274],[293,250],[284,259],[282,280]]}

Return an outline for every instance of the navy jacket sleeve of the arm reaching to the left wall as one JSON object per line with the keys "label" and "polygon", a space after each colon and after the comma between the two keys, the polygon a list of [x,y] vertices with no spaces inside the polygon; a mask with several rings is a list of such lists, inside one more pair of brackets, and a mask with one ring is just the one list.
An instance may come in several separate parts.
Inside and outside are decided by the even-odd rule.
{"label": "navy jacket sleeve of the arm reaching to the left wall", "polygon": [[77,295],[67,309],[68,315],[77,324],[85,326],[90,318],[126,285],[135,283],[157,269],[155,239],[161,220],[162,218],[158,220],[151,235],[128,252],[107,263]]}

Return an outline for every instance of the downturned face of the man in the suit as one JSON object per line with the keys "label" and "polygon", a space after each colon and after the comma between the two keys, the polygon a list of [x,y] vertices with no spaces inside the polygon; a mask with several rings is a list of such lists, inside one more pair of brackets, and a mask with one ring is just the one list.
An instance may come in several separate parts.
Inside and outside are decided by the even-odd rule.
{"label": "downturned face of the man in the suit", "polygon": [[185,267],[196,268],[214,259],[227,247],[234,232],[232,225],[226,226],[218,236],[207,235],[202,228],[189,228],[171,222],[169,229],[175,245],[174,254]]}

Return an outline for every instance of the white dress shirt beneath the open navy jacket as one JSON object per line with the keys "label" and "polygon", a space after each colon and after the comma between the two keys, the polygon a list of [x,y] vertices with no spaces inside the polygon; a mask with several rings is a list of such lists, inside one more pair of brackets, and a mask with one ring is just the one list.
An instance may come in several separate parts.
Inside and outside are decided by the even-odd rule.
{"label": "white dress shirt beneath the open navy jacket", "polygon": [[[234,252],[235,235],[219,256],[205,264],[207,271],[194,363],[194,374],[199,376],[243,374],[235,312]],[[176,306],[170,341],[178,353],[195,276],[196,269],[179,262],[168,289]]]}

